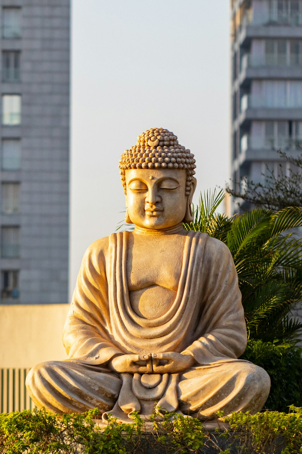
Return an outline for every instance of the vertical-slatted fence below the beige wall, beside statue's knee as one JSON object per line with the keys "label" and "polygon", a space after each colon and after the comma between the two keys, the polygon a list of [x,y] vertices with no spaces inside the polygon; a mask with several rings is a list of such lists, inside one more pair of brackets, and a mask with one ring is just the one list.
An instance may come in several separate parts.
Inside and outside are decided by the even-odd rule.
{"label": "vertical-slatted fence below the beige wall, beside statue's knee", "polygon": [[27,369],[0,369],[0,413],[32,410],[34,402],[25,387]]}

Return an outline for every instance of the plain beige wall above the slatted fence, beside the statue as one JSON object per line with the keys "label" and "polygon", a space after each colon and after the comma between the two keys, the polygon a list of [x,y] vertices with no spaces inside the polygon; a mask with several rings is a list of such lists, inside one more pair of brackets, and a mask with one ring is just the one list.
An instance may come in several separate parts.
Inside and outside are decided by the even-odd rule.
{"label": "plain beige wall above the slatted fence, beside the statue", "polygon": [[62,331],[69,304],[0,306],[0,368],[67,358]]}

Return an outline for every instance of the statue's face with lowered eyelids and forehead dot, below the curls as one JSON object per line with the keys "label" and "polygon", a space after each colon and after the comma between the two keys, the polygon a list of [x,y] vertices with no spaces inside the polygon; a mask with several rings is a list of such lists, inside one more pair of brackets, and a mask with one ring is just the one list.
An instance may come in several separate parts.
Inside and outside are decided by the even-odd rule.
{"label": "statue's face with lowered eyelids and forehead dot, below the curls", "polygon": [[186,178],[182,169],[126,170],[126,203],[134,225],[161,230],[182,222],[187,207]]}

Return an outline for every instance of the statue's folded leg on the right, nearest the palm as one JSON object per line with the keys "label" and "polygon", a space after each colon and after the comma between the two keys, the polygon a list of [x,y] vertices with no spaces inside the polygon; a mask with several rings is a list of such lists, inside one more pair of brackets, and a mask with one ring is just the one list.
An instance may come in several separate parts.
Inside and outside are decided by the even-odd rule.
{"label": "statue's folded leg on the right, nearest the palm", "polygon": [[214,418],[223,410],[260,411],[269,394],[270,379],[259,366],[244,360],[228,360],[199,366],[179,377],[178,399],[183,413],[198,419]]}

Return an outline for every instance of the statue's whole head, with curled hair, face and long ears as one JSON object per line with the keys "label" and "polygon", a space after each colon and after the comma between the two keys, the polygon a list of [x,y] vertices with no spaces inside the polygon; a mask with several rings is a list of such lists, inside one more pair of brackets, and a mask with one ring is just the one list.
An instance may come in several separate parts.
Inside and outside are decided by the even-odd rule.
{"label": "statue's whole head, with curled hair, face and long ears", "polygon": [[126,222],[163,230],[192,221],[195,159],[177,136],[163,128],[148,129],[119,162]]}

